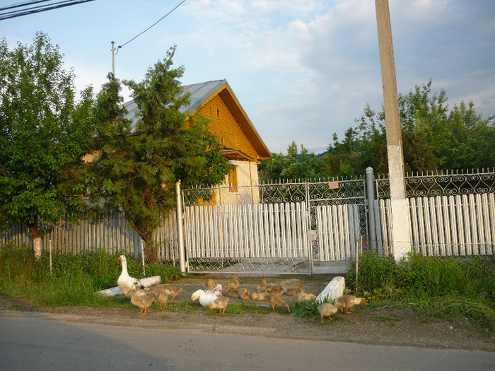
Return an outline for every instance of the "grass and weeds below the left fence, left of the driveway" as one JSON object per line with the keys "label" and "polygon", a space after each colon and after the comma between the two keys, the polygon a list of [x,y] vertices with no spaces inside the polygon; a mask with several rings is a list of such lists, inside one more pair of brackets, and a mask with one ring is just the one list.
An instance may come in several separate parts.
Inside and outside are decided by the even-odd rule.
{"label": "grass and weeds below the left fence, left of the driveway", "polygon": [[[112,256],[103,251],[77,255],[55,251],[52,253],[50,274],[48,252],[35,259],[33,249],[25,245],[4,245],[0,247],[0,290],[20,293],[43,305],[68,305],[66,301],[57,302],[62,298],[69,300],[71,305],[90,305],[90,302],[97,305],[98,300],[90,298],[91,295],[96,296],[96,291],[117,285],[121,272],[118,255]],[[127,269],[131,276],[143,276],[140,259],[127,257]],[[145,264],[145,270],[146,276],[161,276],[163,283],[182,276],[178,267],[169,264]]]}

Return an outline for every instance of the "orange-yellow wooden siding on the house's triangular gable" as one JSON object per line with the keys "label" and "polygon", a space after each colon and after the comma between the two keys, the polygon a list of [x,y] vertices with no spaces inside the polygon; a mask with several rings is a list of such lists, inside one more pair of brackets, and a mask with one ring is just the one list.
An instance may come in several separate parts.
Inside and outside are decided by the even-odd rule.
{"label": "orange-yellow wooden siding on the house's triangular gable", "polygon": [[[218,116],[217,117],[217,110]],[[198,111],[204,117],[211,119],[209,131],[219,137],[219,141],[226,148],[232,148],[249,155],[256,160],[259,158],[257,151],[252,146],[240,125],[228,110],[220,95],[216,95]],[[211,114],[210,114],[211,112]]]}

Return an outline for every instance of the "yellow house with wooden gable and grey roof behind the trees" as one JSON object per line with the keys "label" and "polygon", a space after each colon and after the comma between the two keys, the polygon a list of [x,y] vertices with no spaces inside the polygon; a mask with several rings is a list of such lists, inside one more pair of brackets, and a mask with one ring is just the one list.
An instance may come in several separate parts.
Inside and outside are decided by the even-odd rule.
{"label": "yellow house with wooden gable and grey roof behind the trees", "polygon": [[[211,119],[209,130],[219,137],[223,145],[223,156],[232,165],[226,178],[226,186],[234,196],[240,186],[258,183],[257,164],[272,158],[267,146],[252,125],[226,80],[208,81],[182,86],[190,93],[190,105],[181,107],[182,113],[202,114]],[[134,119],[137,105],[134,100],[124,103],[127,118]]]}

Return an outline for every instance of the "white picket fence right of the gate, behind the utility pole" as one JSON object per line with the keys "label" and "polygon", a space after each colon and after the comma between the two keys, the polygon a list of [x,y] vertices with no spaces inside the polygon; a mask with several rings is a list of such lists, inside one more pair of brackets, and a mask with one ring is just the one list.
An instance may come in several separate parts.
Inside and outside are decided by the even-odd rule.
{"label": "white picket fence right of the gate, behind the utility pole", "polygon": [[[414,251],[428,256],[495,254],[495,194],[416,197],[409,203]],[[390,200],[375,201],[378,249],[392,243]]]}

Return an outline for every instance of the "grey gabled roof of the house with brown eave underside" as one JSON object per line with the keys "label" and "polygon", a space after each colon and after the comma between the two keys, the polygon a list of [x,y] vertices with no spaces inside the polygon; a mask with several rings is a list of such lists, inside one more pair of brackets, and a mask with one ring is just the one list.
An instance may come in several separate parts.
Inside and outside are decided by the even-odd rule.
{"label": "grey gabled roof of the house with brown eave underside", "polygon": [[[236,122],[238,122],[240,129],[242,129],[245,136],[252,143],[252,146],[257,151],[260,159],[272,158],[272,154],[268,151],[267,146],[263,143],[260,134],[252,125],[248,114],[244,111],[240,105],[239,100],[235,97],[231,86],[228,85],[226,80],[207,81],[205,83],[195,83],[192,85],[182,86],[184,89],[181,95],[190,93],[190,105],[187,107],[180,107],[180,112],[194,114],[199,111],[201,107],[206,105],[210,100],[220,95],[223,102],[228,107],[228,110],[233,115]],[[134,100],[124,103],[124,107],[127,109],[127,119],[136,121],[134,117],[134,111],[137,110],[137,105]]]}

